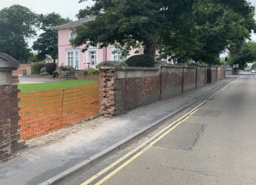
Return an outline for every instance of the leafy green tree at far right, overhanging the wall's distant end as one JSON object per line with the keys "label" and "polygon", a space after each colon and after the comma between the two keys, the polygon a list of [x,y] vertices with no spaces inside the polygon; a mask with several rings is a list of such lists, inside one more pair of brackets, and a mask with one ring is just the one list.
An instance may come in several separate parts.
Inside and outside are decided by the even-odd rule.
{"label": "leafy green tree at far right, overhanging the wall's distant end", "polygon": [[237,10],[232,5],[208,2],[195,9],[198,42],[203,47],[192,55],[194,61],[219,64],[219,56],[224,50],[237,52],[243,41],[250,39],[251,30],[256,31],[254,7],[247,2],[244,5],[248,9]]}

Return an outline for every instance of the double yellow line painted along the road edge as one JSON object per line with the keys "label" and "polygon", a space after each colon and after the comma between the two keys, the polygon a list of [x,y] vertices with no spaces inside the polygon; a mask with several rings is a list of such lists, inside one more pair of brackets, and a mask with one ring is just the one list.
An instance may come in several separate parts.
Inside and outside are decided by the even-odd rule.
{"label": "double yellow line painted along the road edge", "polygon": [[[233,82],[232,82],[233,83]],[[118,165],[120,162],[124,161],[126,158],[130,157],[130,155],[137,152],[137,150],[141,150],[142,147],[145,147],[143,150],[139,151],[137,154],[135,154],[133,157],[130,157],[126,162],[124,162],[122,165],[120,165],[118,168],[115,168],[114,171],[109,173],[107,176],[105,176],[103,179],[101,179],[99,182],[95,183],[96,185],[100,185],[101,183],[104,183],[107,179],[109,179],[111,176],[114,176],[116,172],[119,172],[122,168],[124,168],[126,165],[128,165],[131,161],[134,161],[137,157],[139,157],[141,154],[143,154],[146,150],[148,150],[151,146],[153,146],[156,142],[158,142],[160,139],[164,138],[165,135],[168,135],[170,131],[175,129],[179,126],[179,124],[183,123],[185,120],[187,120],[189,117],[191,117],[195,112],[198,111],[198,109],[201,107],[201,105],[205,104],[205,102],[208,102],[211,98],[216,96],[216,94],[219,94],[220,91],[224,91],[225,88],[227,88],[231,83],[228,83],[225,87],[221,88],[219,91],[217,91],[215,94],[213,94],[208,100],[205,100],[204,102],[201,102],[200,105],[196,106],[194,109],[190,110],[189,113],[186,113],[183,117],[180,117],[178,120],[175,120],[172,122],[168,127],[162,129],[159,131],[156,135],[152,136],[151,139],[149,139],[146,142],[143,142],[140,146],[137,146],[134,150],[131,150],[129,153],[124,155],[123,157],[119,158],[119,160],[115,161],[111,165],[107,166],[107,168],[104,168],[102,171],[98,172],[95,176],[92,176],[90,179],[86,180],[84,183],[81,183],[81,185],[87,185],[88,183],[92,183],[93,180],[97,179],[99,176],[103,175],[105,172],[110,170],[111,168],[115,167],[115,165]],[[165,132],[164,132],[165,131]],[[163,133],[164,132],[164,133]],[[158,138],[157,138],[158,137]],[[157,138],[157,139],[156,139]],[[155,139],[155,140],[153,140]],[[153,141],[152,141],[153,140]],[[151,142],[152,141],[152,142]],[[150,143],[149,143],[150,142]],[[148,146],[145,146],[147,145]]]}

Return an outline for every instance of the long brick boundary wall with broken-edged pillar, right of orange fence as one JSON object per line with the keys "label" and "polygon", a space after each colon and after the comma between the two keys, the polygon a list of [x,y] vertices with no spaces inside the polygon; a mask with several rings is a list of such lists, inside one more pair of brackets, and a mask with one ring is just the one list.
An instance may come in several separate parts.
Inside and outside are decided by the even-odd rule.
{"label": "long brick boundary wall with broken-edged pillar, right of orange fence", "polygon": [[206,85],[208,71],[214,82],[217,74],[216,67],[160,65],[137,68],[114,61],[105,61],[97,68],[100,68],[100,114],[104,117],[118,116],[193,91]]}

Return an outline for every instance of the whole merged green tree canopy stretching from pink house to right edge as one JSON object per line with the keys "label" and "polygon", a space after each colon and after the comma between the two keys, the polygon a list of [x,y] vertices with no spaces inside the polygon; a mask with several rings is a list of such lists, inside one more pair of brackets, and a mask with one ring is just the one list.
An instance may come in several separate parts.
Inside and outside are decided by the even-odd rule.
{"label": "whole merged green tree canopy stretching from pink house to right edge", "polygon": [[[80,0],[79,2],[85,2]],[[78,18],[96,16],[76,28],[73,46],[144,48],[155,57],[175,54],[216,64],[220,53],[256,30],[254,7],[246,0],[95,0]]]}

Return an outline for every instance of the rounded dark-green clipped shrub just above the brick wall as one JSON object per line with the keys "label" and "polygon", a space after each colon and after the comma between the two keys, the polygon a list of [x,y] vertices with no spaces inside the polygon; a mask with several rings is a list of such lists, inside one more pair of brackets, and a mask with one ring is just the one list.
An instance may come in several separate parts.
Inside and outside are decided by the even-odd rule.
{"label": "rounded dark-green clipped shrub just above the brick wall", "polygon": [[155,60],[149,54],[139,54],[129,57],[126,65],[135,67],[154,67]]}

